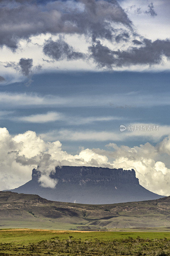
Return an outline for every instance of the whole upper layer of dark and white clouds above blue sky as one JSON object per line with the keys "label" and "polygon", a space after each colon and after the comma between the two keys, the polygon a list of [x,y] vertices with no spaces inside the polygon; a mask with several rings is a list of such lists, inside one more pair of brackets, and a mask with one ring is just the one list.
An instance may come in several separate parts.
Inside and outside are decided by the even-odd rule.
{"label": "whole upper layer of dark and white clouds above blue sky", "polygon": [[[124,9],[120,4],[124,7],[125,2],[129,2],[129,7]],[[155,9],[157,0],[154,4],[131,3],[130,0],[1,1],[2,75],[6,72],[4,67],[7,72],[15,71],[13,80],[19,81],[23,77],[18,77],[18,73],[27,77],[30,72],[39,72],[40,66],[50,71],[126,70],[127,67],[149,70],[151,66],[169,69],[169,39],[157,36],[151,40],[144,29],[142,33],[137,31],[128,16],[135,9],[135,20],[139,14],[144,15],[147,24],[152,20],[152,27],[162,6],[164,11],[168,10],[169,3],[161,1],[160,13]],[[143,4],[144,9],[137,8],[138,4]],[[158,26],[161,31],[166,30],[161,21]]]}

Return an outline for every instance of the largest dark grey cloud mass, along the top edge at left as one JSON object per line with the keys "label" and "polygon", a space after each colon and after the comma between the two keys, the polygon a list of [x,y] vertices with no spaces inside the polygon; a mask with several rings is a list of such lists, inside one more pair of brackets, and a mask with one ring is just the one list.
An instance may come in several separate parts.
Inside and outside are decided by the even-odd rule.
{"label": "largest dark grey cloud mass, along the top edge at left", "polygon": [[117,22],[131,28],[131,21],[116,0],[112,1],[2,1],[0,2],[0,45],[12,50],[19,39],[41,33],[94,35],[111,39]]}

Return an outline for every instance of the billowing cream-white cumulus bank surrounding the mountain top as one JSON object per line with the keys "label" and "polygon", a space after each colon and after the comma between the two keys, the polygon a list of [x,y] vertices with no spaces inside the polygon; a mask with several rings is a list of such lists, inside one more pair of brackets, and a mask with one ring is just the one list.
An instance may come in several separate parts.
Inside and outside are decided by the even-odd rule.
{"label": "billowing cream-white cumulus bank surrounding the mountain top", "polygon": [[[169,195],[170,169],[161,161],[162,154],[170,154],[169,138],[156,146],[147,142],[132,148],[109,143],[107,147],[114,148],[114,151],[86,148],[76,155],[68,154],[61,146],[60,141],[45,142],[33,131],[11,136],[6,128],[0,128],[0,190],[26,183],[37,165],[41,186],[50,188],[57,186],[57,180],[50,178],[55,166],[85,165],[133,168],[142,186],[155,193]],[[113,160],[109,162],[107,155]]]}

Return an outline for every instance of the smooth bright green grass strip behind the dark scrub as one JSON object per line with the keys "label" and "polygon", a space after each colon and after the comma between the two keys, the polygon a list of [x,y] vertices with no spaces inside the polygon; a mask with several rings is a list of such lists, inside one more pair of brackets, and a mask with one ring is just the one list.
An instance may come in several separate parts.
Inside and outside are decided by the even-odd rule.
{"label": "smooth bright green grass strip behind the dark scrub", "polygon": [[96,238],[101,241],[108,241],[111,239],[137,238],[140,236],[143,239],[170,239],[170,232],[119,232],[119,231],[106,231],[106,232],[75,232],[75,231],[61,231],[57,230],[36,230],[36,229],[1,229],[0,241],[1,243],[14,243],[14,244],[29,244],[30,242],[37,243],[40,240],[48,240],[54,236],[58,236],[60,240],[69,239],[69,236],[73,236],[74,239],[81,238],[95,240]]}

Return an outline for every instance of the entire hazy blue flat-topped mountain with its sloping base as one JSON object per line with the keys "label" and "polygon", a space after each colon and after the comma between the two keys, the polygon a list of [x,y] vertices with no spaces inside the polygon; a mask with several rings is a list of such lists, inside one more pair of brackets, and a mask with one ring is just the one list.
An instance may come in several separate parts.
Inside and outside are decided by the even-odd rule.
{"label": "entire hazy blue flat-topped mountain with its sloping base", "polygon": [[152,200],[163,196],[152,193],[139,184],[135,171],[102,167],[56,167],[50,177],[57,179],[55,188],[44,188],[39,183],[40,172],[33,169],[32,180],[9,191],[37,194],[61,202],[82,204],[113,204]]}

